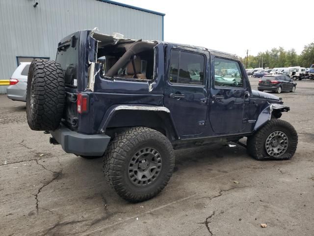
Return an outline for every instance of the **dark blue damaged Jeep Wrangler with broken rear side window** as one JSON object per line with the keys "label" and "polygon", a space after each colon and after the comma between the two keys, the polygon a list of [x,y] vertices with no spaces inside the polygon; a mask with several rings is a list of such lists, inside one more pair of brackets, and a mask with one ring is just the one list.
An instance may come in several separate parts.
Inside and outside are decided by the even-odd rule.
{"label": "dark blue damaged Jeep Wrangler with broken rear side window", "polygon": [[32,130],[84,158],[103,156],[104,173],[130,202],[169,181],[174,149],[238,142],[257,160],[289,159],[289,107],[251,89],[234,55],[190,45],[82,30],[62,39],[55,61],[35,59],[27,83]]}

